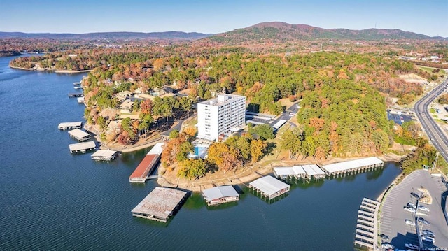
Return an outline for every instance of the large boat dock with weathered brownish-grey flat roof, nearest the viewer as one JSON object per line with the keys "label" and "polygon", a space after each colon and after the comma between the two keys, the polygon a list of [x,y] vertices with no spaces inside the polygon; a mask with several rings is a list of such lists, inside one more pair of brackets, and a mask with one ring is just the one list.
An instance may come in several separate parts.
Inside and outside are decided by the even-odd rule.
{"label": "large boat dock with weathered brownish-grey flat roof, nearest the viewer", "polygon": [[134,209],[132,216],[141,217],[158,222],[167,222],[186,200],[187,192],[173,188],[155,187],[148,196]]}

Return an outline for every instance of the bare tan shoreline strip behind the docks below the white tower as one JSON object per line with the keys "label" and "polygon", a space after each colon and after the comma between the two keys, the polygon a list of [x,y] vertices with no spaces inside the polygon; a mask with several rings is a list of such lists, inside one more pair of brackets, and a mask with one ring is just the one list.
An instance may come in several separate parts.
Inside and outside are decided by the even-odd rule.
{"label": "bare tan shoreline strip behind the docks below the white tower", "polygon": [[[380,155],[378,156],[379,159],[383,160],[384,162],[400,162],[402,156],[400,155]],[[323,162],[319,162],[318,164],[332,164],[336,162],[343,162],[343,161],[349,161],[351,159],[356,159],[357,157],[351,157],[351,158],[329,158],[325,159]],[[281,161],[279,160],[279,163]],[[308,159],[301,160],[299,162],[292,161],[294,164],[310,164],[310,161]],[[284,161],[281,163],[285,163]],[[288,161],[286,161],[288,163]],[[314,163],[315,164],[315,163]],[[244,168],[241,168],[238,171],[235,171],[235,173],[227,173],[227,175],[222,175],[221,177],[214,178],[213,176],[215,174],[208,174],[204,178],[200,178],[199,180],[186,180],[181,179],[176,176],[173,177],[173,175],[167,175],[159,174],[159,177],[157,179],[158,185],[162,187],[176,187],[181,189],[188,189],[192,192],[202,192],[203,189],[208,189],[211,187],[217,187],[221,185],[246,185],[249,182],[252,182],[253,180],[256,180],[257,178],[260,178],[264,175],[268,175],[269,173],[272,173],[272,162],[271,163],[264,163],[264,162],[258,162],[255,163],[253,166],[246,166]],[[218,171],[219,172],[219,171]],[[216,172],[216,173],[218,173]],[[169,174],[172,174],[169,172]],[[219,175],[219,174],[216,174]],[[209,177],[207,177],[209,176]],[[397,180],[401,176],[398,175],[395,180]],[[395,182],[394,180],[394,182]],[[390,187],[390,186],[389,186]],[[388,189],[388,188],[387,188]],[[387,189],[384,191],[386,192]],[[383,196],[383,193],[380,194],[380,196]]]}

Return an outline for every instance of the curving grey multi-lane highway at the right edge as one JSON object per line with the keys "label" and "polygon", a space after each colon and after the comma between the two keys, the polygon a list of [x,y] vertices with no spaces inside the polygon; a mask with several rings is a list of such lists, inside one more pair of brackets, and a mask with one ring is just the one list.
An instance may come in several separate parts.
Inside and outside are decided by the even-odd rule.
{"label": "curving grey multi-lane highway at the right edge", "polygon": [[431,143],[440,152],[440,155],[448,160],[448,138],[442,132],[437,123],[433,120],[433,117],[428,111],[429,104],[437,98],[445,89],[447,89],[448,80],[445,79],[442,84],[432,89],[428,94],[423,96],[422,99],[417,101],[414,106],[414,112],[419,118],[423,131],[428,135]]}

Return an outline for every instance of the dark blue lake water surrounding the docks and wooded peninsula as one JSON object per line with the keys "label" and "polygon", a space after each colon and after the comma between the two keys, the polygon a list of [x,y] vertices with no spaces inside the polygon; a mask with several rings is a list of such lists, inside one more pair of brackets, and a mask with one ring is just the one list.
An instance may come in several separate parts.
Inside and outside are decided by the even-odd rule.
{"label": "dark blue lake water surrounding the docks and wooded peninsula", "polygon": [[300,183],[270,204],[246,188],[217,208],[193,194],[169,224],[132,217],[157,185],[128,181],[146,150],[110,163],[71,155],[76,142],[57,124],[83,120],[84,106],[67,97],[83,74],[10,69],[11,59],[0,58],[0,250],[353,250],[362,198],[400,173],[387,163]]}

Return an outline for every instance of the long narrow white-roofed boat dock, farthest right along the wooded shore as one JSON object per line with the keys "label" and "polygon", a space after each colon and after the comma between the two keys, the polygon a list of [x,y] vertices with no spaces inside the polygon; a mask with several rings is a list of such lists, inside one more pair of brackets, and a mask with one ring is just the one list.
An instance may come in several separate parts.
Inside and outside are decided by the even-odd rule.
{"label": "long narrow white-roofed boat dock, farthest right along the wooded shore", "polygon": [[322,166],[328,176],[356,174],[364,171],[371,171],[374,168],[381,168],[384,162],[377,157],[368,157],[363,159],[354,159],[348,162],[339,162]]}

